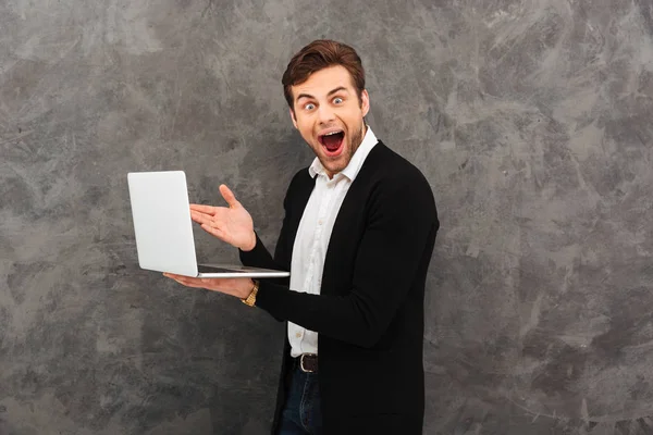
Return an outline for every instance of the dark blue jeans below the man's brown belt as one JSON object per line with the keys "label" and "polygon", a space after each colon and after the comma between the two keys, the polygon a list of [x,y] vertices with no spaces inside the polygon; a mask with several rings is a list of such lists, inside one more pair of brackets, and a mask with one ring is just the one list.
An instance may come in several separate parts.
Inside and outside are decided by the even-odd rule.
{"label": "dark blue jeans below the man's brown belt", "polygon": [[317,373],[304,373],[296,364],[283,407],[278,435],[322,435],[322,411]]}

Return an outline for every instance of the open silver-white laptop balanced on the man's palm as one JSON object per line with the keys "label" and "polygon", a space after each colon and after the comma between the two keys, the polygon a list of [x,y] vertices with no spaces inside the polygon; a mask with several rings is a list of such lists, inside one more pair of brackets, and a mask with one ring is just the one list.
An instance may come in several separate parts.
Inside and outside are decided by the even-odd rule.
{"label": "open silver-white laptop balanced on the man's palm", "polygon": [[140,269],[204,278],[278,278],[289,272],[198,264],[184,171],[127,174]]}

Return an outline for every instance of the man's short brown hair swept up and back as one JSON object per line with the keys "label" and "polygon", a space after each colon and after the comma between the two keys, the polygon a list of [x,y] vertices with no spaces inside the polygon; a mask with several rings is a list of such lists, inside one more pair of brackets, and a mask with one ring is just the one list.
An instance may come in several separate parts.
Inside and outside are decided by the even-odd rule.
{"label": "man's short brown hair swept up and back", "polygon": [[304,47],[291,59],[281,83],[283,94],[293,110],[293,86],[308,80],[312,73],[330,66],[344,66],[352,76],[352,85],[358,94],[358,101],[365,89],[362,62],[352,47],[330,39],[318,39]]}

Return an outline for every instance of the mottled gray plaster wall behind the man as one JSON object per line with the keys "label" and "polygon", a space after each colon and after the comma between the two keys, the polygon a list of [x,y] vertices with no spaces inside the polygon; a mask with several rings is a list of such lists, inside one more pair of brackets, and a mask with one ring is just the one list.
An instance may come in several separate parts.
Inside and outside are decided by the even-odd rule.
{"label": "mottled gray plaster wall behind the man", "polygon": [[139,270],[125,174],[273,246],[319,37],[440,208],[424,432],[653,433],[651,0],[0,2],[0,433],[266,433],[282,326]]}

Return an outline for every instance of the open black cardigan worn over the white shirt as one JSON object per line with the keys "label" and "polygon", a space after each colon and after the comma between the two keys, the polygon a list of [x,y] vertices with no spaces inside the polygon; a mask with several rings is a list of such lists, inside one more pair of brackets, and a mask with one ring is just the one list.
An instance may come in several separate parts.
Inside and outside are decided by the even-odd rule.
{"label": "open black cardigan worn over the white shirt", "polygon": [[[274,258],[260,239],[243,264],[291,270],[293,245],[315,179],[299,171],[284,200]],[[370,151],[336,217],[320,295],[288,279],[260,284],[256,306],[318,333],[324,433],[421,434],[424,283],[440,224],[429,183],[382,142]],[[287,334],[274,433],[284,403]]]}

